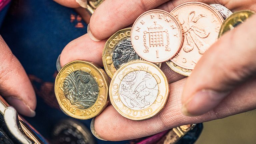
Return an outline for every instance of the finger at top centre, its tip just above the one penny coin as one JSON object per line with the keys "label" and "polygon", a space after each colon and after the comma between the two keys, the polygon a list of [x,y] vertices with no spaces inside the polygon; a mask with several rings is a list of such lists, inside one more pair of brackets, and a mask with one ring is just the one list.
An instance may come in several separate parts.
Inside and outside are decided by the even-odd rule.
{"label": "finger at top centre, its tip just above the one penny coin", "polygon": [[143,12],[168,0],[105,0],[93,13],[88,34],[95,40],[110,37],[118,30],[132,24]]}

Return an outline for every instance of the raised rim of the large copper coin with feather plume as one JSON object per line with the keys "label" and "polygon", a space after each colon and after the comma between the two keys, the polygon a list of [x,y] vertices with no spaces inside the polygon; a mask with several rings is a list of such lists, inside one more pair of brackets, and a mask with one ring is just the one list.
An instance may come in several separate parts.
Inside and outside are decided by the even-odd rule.
{"label": "raised rim of the large copper coin with feather plume", "polygon": [[[223,17],[221,16],[221,14],[220,14],[215,8],[211,7],[211,6],[208,5],[208,4],[202,3],[202,2],[186,2],[186,3],[182,3],[182,4],[178,5],[178,6],[176,6],[170,13],[171,13],[172,15],[174,15],[173,12],[176,11],[179,7],[184,6],[184,5],[193,5],[193,4],[195,4],[195,5],[203,5],[203,6],[206,6],[206,8],[211,9],[212,11],[215,12],[215,14],[219,17],[219,19],[220,19],[221,22],[223,23],[224,19],[223,19]],[[182,34],[183,34],[183,32],[182,32]],[[183,43],[182,43],[182,45],[183,45]],[[181,46],[181,47],[182,47],[182,46]],[[180,49],[181,49],[181,48],[180,48]],[[180,50],[179,50],[179,51],[180,51]],[[179,53],[179,51],[178,51],[177,53]],[[176,53],[176,54],[177,54],[177,53]],[[176,64],[177,66],[179,66],[179,67],[181,67],[181,68],[184,68],[184,67],[180,66],[180,64],[177,64],[177,63],[173,60],[173,57],[172,57],[170,60],[171,60],[174,64]],[[185,68],[185,69],[188,69],[188,68]],[[190,70],[193,70],[194,68],[193,68],[193,69],[189,68],[189,69],[190,69]]]}

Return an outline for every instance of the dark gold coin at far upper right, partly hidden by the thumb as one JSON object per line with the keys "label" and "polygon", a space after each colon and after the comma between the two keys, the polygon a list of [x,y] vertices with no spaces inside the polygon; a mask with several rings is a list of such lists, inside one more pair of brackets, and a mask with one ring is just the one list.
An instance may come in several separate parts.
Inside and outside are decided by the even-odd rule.
{"label": "dark gold coin at far upper right, partly hidden by the thumb", "polygon": [[250,16],[254,15],[255,12],[251,10],[242,10],[233,13],[227,18],[220,28],[219,38],[227,31],[234,29],[239,24],[244,23]]}

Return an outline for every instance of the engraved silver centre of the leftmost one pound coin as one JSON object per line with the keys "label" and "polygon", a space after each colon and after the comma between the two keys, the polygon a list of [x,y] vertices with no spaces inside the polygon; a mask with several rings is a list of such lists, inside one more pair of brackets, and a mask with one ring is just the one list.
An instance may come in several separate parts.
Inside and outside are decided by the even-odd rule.
{"label": "engraved silver centre of the leftmost one pound coin", "polygon": [[81,68],[81,70],[68,70],[68,75],[63,83],[60,83],[60,89],[71,105],[81,108],[91,107],[98,97],[99,87],[95,78],[90,74],[90,69]]}

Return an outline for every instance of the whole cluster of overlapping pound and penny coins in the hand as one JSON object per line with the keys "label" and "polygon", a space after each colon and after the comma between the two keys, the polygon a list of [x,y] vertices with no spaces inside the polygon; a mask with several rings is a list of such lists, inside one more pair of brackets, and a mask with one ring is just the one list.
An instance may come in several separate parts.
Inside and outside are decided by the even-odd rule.
{"label": "whole cluster of overlapping pound and penny coins in the hand", "polygon": [[165,107],[169,95],[161,63],[189,76],[221,35],[254,13],[232,14],[222,5],[200,2],[183,3],[171,12],[149,10],[132,28],[119,30],[107,40],[102,60],[112,78],[110,86],[105,72],[91,62],[73,61],[60,70],[55,81],[60,108],[69,116],[89,119],[105,108],[109,93],[111,104],[122,116],[151,118]]}

